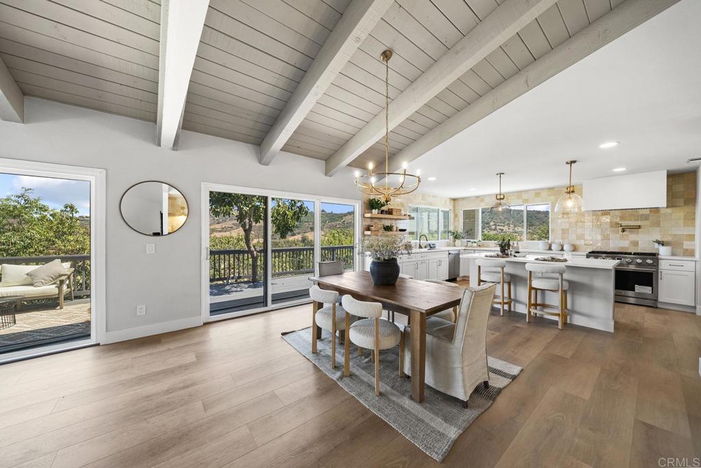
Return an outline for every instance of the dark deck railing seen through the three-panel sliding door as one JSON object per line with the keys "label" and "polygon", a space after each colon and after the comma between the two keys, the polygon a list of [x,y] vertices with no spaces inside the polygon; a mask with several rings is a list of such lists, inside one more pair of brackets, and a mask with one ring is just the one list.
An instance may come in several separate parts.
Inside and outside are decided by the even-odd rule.
{"label": "dark deck railing seen through the three-panel sliding door", "polygon": [[[264,251],[260,250],[258,278],[264,278]],[[308,275],[314,273],[314,247],[283,247],[272,249],[273,277]],[[321,247],[321,260],[342,260],[347,269],[353,268],[352,245]],[[252,262],[246,249],[212,250],[210,252],[210,283],[251,281]]]}

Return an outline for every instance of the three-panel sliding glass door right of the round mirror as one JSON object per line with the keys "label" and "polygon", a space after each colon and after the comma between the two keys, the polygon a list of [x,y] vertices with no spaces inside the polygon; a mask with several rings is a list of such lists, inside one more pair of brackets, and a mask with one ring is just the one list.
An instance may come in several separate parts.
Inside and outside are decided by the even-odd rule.
{"label": "three-panel sliding glass door right of the round mirror", "polygon": [[354,270],[359,202],[203,184],[205,320],[308,301],[318,261]]}

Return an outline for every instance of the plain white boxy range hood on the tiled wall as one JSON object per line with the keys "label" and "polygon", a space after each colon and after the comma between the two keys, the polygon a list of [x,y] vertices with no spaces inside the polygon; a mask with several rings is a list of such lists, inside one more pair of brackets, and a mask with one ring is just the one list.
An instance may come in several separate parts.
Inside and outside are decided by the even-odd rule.
{"label": "plain white boxy range hood on the tiled wall", "polygon": [[582,185],[586,211],[667,206],[667,171],[599,177]]}

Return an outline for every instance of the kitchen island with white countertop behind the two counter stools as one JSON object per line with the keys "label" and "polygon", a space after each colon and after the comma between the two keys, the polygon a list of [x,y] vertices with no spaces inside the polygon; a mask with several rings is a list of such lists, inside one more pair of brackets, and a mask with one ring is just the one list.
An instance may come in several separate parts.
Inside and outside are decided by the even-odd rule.
{"label": "kitchen island with white countertop behind the two counter stools", "polygon": [[[475,259],[484,258],[481,254],[463,254],[461,259],[470,261],[470,286],[477,286],[477,265]],[[540,254],[529,254],[526,257],[509,257],[506,261],[505,273],[511,275],[512,311],[526,314],[528,304],[528,272],[526,263],[551,263],[536,261]],[[499,259],[495,259],[499,260]],[[585,259],[573,256],[571,261],[557,263],[567,267],[564,279],[569,282],[568,322],[575,325],[587,326],[613,332],[613,285],[614,270],[618,260]],[[501,290],[497,289],[497,294]],[[545,302],[557,304],[557,292],[544,291]],[[542,299],[539,298],[539,302]],[[504,313],[509,313],[505,312]],[[557,317],[540,315],[557,320]],[[524,317],[525,319],[525,317]]]}

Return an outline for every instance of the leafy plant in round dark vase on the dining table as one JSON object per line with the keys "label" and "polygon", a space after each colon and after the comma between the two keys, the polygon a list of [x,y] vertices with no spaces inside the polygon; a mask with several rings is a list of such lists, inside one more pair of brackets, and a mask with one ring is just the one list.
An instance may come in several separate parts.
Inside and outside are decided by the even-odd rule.
{"label": "leafy plant in round dark vase on the dining table", "polygon": [[370,263],[372,282],[378,286],[388,286],[397,282],[400,271],[397,256],[404,252],[409,254],[411,242],[407,242],[404,236],[375,235],[362,242],[360,251],[372,257],[372,263]]}

